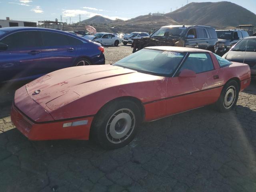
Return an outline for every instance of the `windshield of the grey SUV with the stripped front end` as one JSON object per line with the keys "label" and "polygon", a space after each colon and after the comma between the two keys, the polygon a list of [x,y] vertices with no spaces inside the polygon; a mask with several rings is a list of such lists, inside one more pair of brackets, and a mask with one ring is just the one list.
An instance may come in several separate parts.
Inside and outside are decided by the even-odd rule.
{"label": "windshield of the grey SUV with the stripped front end", "polygon": [[162,27],[154,32],[150,37],[172,37],[181,36],[186,28],[182,27]]}

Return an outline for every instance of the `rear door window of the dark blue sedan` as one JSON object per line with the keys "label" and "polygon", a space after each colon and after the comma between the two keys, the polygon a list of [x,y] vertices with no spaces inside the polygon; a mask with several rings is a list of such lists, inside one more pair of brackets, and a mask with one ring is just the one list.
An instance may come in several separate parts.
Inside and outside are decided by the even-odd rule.
{"label": "rear door window of the dark blue sedan", "polygon": [[42,31],[43,46],[68,46],[68,36],[55,32]]}

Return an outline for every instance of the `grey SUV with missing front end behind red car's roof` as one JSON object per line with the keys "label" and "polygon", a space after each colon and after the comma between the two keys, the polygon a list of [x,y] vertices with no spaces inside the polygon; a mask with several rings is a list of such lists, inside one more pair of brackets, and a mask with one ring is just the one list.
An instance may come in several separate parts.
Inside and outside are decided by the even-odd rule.
{"label": "grey SUV with missing front end behind red car's roof", "polygon": [[150,46],[179,46],[210,50],[218,49],[218,38],[214,28],[209,26],[162,26],[150,37],[134,39],[133,52]]}

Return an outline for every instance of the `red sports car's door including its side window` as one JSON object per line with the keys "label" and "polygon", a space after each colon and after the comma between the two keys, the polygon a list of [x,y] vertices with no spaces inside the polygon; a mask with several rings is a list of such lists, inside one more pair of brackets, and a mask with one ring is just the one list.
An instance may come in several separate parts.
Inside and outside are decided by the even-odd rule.
{"label": "red sports car's door including its side window", "polygon": [[[182,70],[192,70],[195,77],[179,76]],[[190,53],[174,77],[168,79],[167,115],[202,107],[218,100],[218,70],[208,53]]]}

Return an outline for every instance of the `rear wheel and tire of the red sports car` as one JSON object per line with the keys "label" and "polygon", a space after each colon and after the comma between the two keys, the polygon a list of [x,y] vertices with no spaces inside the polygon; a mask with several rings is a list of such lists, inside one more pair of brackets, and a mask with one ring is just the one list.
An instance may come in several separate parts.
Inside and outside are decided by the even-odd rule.
{"label": "rear wheel and tire of the red sports car", "polygon": [[239,94],[239,85],[235,80],[231,80],[223,87],[220,98],[215,103],[219,112],[228,112],[236,106]]}

